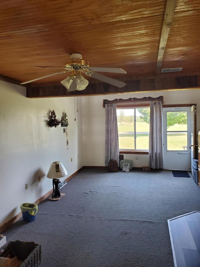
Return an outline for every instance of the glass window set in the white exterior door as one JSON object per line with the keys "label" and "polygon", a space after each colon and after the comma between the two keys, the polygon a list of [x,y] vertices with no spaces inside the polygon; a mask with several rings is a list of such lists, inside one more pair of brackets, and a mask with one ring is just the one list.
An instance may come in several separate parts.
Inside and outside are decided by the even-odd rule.
{"label": "glass window set in the white exterior door", "polygon": [[187,151],[187,111],[167,112],[167,150]]}

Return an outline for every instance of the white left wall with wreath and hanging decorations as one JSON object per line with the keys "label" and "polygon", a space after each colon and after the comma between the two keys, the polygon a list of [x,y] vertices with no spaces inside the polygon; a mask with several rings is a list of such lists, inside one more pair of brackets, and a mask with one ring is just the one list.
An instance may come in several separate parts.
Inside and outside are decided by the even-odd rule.
{"label": "white left wall with wreath and hanging decorations", "polygon": [[[53,109],[57,118],[68,115],[68,149],[63,127],[46,127]],[[78,111],[74,121],[73,97],[29,99],[25,87],[0,81],[0,225],[53,188],[46,177],[52,162],[63,163],[66,177],[83,166],[82,97]]]}

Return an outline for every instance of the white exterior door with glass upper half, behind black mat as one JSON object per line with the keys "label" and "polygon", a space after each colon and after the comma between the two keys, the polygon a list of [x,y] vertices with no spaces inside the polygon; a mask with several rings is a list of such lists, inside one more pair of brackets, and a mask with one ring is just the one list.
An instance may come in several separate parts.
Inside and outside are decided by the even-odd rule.
{"label": "white exterior door with glass upper half, behind black mat", "polygon": [[191,170],[191,107],[163,108],[164,169]]}

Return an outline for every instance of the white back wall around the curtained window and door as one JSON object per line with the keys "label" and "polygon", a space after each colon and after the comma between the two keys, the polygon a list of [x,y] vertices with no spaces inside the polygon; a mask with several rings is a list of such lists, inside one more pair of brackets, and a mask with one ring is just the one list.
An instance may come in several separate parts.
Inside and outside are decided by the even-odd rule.
{"label": "white back wall around the curtained window and door", "polygon": [[[158,97],[163,95],[164,105],[197,104],[197,130],[200,130],[200,90],[158,91],[147,93],[97,95],[83,97],[83,154],[84,166],[105,166],[105,109],[103,99],[130,97]],[[138,159],[136,160],[136,156]],[[124,154],[133,160],[134,167],[148,166],[148,155]]]}

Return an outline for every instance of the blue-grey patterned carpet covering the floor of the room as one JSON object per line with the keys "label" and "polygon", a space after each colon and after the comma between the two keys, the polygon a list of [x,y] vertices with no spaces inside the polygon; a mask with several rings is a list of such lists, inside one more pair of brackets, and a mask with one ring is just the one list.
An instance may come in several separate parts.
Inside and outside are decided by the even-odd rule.
{"label": "blue-grey patterned carpet covering the floor of the room", "polygon": [[41,244],[41,267],[174,266],[167,220],[200,211],[188,173],[83,169],[61,188],[65,197],[47,198],[35,221],[21,218],[3,234]]}

